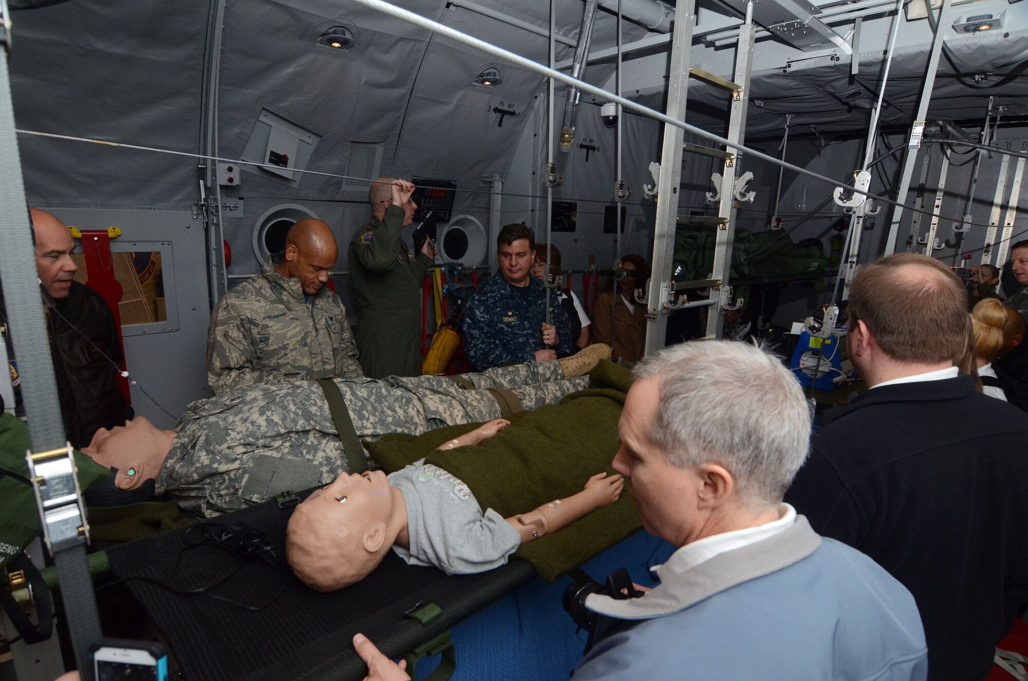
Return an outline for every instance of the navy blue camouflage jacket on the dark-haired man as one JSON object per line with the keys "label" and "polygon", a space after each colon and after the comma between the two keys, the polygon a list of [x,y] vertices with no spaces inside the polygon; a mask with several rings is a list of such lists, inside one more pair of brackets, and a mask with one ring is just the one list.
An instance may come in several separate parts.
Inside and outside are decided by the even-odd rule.
{"label": "navy blue camouflage jacket on the dark-haired man", "polygon": [[[523,290],[500,273],[478,287],[464,312],[464,349],[478,370],[525,362],[545,350],[542,324],[546,321],[546,287],[535,277]],[[550,294],[550,323],[557,329],[557,355],[571,352],[571,324],[560,300]]]}

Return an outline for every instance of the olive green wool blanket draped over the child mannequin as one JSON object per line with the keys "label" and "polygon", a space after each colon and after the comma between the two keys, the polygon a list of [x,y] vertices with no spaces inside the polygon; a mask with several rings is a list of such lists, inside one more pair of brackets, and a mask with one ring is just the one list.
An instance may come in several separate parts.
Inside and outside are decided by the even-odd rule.
{"label": "olive green wool blanket draped over the child mannequin", "polygon": [[[416,437],[387,435],[364,445],[387,472],[426,458],[427,463],[464,480],[483,510],[492,508],[504,517],[524,513],[581,492],[590,475],[614,473],[611,462],[619,446],[618,419],[630,373],[602,362],[590,378],[593,388],[572,393],[560,404],[514,415],[510,428],[479,445],[434,452],[477,424],[440,428]],[[611,506],[523,544],[514,555],[531,563],[552,582],[640,527],[626,487]]]}

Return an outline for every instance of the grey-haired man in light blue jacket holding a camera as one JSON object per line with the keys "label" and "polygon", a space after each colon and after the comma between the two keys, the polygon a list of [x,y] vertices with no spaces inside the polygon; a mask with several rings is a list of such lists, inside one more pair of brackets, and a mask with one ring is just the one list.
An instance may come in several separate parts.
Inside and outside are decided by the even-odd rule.
{"label": "grey-haired man in light blue jacket holding a camera", "polygon": [[[778,358],[730,340],[667,348],[635,367],[619,429],[614,469],[642,526],[678,548],[639,598],[586,597],[596,642],[574,681],[926,678],[910,593],[781,501],[810,417]],[[369,680],[407,678],[354,644]]]}

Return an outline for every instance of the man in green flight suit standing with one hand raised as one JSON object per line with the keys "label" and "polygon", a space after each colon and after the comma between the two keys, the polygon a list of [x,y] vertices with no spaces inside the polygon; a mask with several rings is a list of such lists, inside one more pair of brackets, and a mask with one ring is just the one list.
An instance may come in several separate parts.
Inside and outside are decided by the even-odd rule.
{"label": "man in green flight suit standing with one hand raised", "polygon": [[368,189],[371,220],[354,234],[346,259],[357,301],[357,349],[369,379],[421,374],[421,299],[425,273],[436,257],[426,240],[415,257],[401,237],[417,204],[406,180],[380,177]]}

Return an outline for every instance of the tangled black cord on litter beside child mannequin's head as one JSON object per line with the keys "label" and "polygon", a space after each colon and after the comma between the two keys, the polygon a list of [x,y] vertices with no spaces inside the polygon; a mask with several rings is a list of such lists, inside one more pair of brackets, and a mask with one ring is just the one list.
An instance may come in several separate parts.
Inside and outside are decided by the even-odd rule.
{"label": "tangled black cord on litter beside child mannequin's head", "polygon": [[[170,571],[170,575],[167,579],[154,579],[152,577],[145,577],[143,575],[130,576],[116,579],[114,581],[102,584],[97,587],[97,590],[103,588],[109,588],[116,584],[120,584],[127,581],[142,581],[147,584],[153,584],[155,586],[160,586],[172,594],[177,596],[207,596],[208,598],[214,599],[216,601],[221,601],[223,603],[228,603],[229,605],[234,605],[236,607],[243,608],[245,610],[250,610],[256,612],[263,610],[274,603],[274,600],[279,598],[282,590],[289,583],[289,575],[287,574],[285,579],[283,579],[282,584],[279,588],[267,600],[266,603],[261,605],[250,605],[247,603],[241,603],[233,599],[226,598],[224,596],[219,596],[218,594],[212,594],[211,592],[215,588],[226,583],[229,579],[234,577],[240,573],[247,563],[252,563],[253,561],[260,561],[264,565],[268,566],[273,570],[278,570],[282,567],[282,559],[276,552],[274,547],[267,543],[264,533],[251,530],[243,525],[222,525],[220,523],[197,523],[196,525],[189,526],[183,539],[188,546],[179,551],[178,560],[175,561],[175,565]],[[237,561],[235,569],[230,573],[218,579],[212,584],[207,584],[206,586],[200,586],[192,589],[183,589],[177,586],[173,586],[169,583],[171,578],[178,572],[179,566],[182,564],[182,559],[185,557],[186,551],[199,548],[200,546],[219,546],[224,548]]]}

